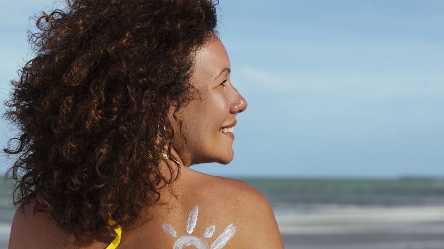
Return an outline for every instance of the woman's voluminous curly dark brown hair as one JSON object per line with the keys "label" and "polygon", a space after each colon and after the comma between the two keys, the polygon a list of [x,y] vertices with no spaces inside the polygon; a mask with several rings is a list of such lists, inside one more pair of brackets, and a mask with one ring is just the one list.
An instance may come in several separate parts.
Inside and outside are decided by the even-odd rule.
{"label": "woman's voluminous curly dark brown hair", "polygon": [[127,226],[159,201],[180,174],[159,170],[174,138],[168,112],[193,99],[193,55],[217,35],[217,4],[67,0],[37,16],[35,57],[4,103],[20,129],[3,149],[19,154],[7,175],[14,205],[35,202],[74,242],[105,233],[109,214]]}

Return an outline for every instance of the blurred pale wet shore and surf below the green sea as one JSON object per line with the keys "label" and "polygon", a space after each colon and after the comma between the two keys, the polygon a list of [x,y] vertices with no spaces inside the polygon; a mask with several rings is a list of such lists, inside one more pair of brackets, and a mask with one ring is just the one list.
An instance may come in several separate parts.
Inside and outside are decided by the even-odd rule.
{"label": "blurred pale wet shore and surf below the green sea", "polygon": [[[275,215],[285,249],[444,249],[444,206],[275,209]],[[8,247],[10,229],[0,223],[0,249]]]}

